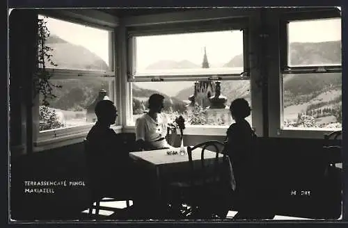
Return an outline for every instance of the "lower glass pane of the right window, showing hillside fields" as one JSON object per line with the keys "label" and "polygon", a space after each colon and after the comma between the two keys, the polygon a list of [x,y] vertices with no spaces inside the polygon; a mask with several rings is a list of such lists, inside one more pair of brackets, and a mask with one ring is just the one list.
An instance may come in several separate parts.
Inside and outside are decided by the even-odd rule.
{"label": "lower glass pane of the right window, showing hillside fields", "polygon": [[283,95],[283,127],[342,127],[341,73],[285,74]]}

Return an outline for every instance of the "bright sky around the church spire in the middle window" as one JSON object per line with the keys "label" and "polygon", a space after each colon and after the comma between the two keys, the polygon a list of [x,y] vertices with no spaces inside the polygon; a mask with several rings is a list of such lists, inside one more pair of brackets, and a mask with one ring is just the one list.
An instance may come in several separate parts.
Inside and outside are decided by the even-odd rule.
{"label": "bright sky around the church spire in the middle window", "polygon": [[218,31],[138,37],[136,68],[143,70],[159,60],[189,60],[201,65],[204,48],[211,65],[228,63],[231,58],[243,53],[243,32]]}

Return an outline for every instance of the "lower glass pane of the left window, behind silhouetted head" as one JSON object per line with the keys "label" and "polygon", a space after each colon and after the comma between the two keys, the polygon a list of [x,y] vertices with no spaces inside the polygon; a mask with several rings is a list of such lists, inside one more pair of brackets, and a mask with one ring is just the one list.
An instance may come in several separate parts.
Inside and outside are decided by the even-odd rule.
{"label": "lower glass pane of the left window, behind silhouetted head", "polygon": [[[49,99],[49,106],[40,105],[40,131],[61,127],[77,127],[96,121],[95,101],[107,99],[100,90],[106,90],[106,96],[113,100],[113,81],[102,78],[90,79],[51,79],[61,88],[54,88],[55,99]],[[101,96],[100,96],[101,95]],[[40,95],[42,101],[42,95]]]}

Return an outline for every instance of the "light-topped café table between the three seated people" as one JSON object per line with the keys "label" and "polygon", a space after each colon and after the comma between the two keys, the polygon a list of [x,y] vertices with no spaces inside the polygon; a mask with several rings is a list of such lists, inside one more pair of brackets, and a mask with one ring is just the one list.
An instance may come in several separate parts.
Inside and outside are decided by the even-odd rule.
{"label": "light-topped caf\u00e9 table between the three seated people", "polygon": [[[179,152],[180,148],[176,148]],[[157,178],[157,190],[158,196],[161,197],[162,189],[161,189],[161,179],[164,177],[168,177],[175,172],[184,172],[189,168],[189,158],[187,154],[173,154],[168,155],[167,151],[169,149],[156,149],[150,151],[141,151],[141,152],[131,152],[129,153],[129,157],[132,158],[137,163],[143,165],[144,168],[154,169]],[[171,149],[173,150],[173,149]],[[193,166],[200,165],[200,156],[201,156],[201,148],[194,149],[192,151],[192,161]],[[215,161],[216,152],[209,151],[205,149],[205,165],[209,166],[213,164]],[[222,161],[223,154],[219,154],[219,162]],[[232,172],[232,166],[230,165],[230,161],[228,159],[228,168],[230,172],[228,173],[228,177],[230,178],[230,186],[233,190],[235,190],[235,178]]]}

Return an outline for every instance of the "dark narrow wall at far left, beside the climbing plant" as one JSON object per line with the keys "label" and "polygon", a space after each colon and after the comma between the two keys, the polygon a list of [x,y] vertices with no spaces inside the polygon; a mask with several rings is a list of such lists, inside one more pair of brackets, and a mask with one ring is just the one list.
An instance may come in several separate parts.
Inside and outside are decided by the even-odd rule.
{"label": "dark narrow wall at far left, beside the climbing plant", "polygon": [[[18,154],[33,143],[32,75],[36,65],[37,22],[32,10],[13,10],[9,17],[10,146]],[[23,39],[25,37],[25,39]]]}

